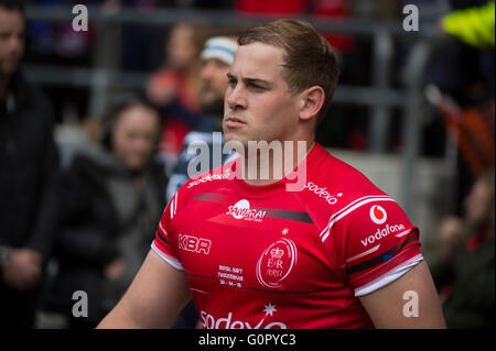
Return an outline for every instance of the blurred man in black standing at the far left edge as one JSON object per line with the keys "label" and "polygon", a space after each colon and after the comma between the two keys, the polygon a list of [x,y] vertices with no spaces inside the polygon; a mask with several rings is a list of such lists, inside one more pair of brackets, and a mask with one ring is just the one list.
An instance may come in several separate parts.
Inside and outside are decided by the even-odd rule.
{"label": "blurred man in black standing at the far left edge", "polygon": [[25,21],[0,0],[0,328],[32,328],[57,216],[58,156],[45,97],[20,73]]}

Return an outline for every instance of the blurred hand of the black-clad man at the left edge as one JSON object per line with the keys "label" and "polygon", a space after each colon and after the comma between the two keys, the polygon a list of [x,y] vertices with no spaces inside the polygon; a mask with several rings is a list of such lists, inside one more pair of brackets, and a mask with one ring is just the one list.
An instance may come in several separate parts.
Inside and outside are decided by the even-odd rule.
{"label": "blurred hand of the black-clad man at the left edge", "polygon": [[31,249],[10,249],[10,262],[3,267],[3,281],[10,288],[25,292],[42,277],[42,255]]}

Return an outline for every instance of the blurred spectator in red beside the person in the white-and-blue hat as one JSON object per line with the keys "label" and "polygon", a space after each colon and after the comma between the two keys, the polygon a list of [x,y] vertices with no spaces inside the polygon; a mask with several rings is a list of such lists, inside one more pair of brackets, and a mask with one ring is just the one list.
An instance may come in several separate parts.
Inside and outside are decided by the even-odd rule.
{"label": "blurred spectator in red beside the person in the white-and-blue hat", "polygon": [[161,108],[164,120],[160,154],[168,173],[176,163],[184,136],[197,122],[191,113],[200,112],[203,32],[188,23],[172,28],[166,44],[166,65],[152,76],[147,87],[148,98]]}

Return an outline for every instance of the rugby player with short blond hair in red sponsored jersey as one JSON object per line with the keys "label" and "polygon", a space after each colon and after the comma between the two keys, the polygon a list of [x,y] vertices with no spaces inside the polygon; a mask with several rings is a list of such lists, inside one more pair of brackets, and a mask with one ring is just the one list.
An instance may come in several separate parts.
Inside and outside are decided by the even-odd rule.
{"label": "rugby player with short blond hair in red sponsored jersey", "polygon": [[418,228],[314,141],[337,83],[332,47],[298,20],[238,44],[223,129],[240,156],[171,199],[100,327],[168,327],[192,296],[208,329],[443,328]]}

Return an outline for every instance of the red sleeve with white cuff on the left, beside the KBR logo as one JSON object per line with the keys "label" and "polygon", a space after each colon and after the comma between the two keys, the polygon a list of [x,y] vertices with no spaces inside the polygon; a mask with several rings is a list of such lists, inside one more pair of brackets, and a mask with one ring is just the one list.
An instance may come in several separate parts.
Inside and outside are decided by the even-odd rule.
{"label": "red sleeve with white cuff on the left, beside the KBR logo", "polygon": [[177,213],[179,194],[180,193],[176,193],[174,195],[163,211],[159,227],[157,228],[155,238],[151,244],[151,249],[171,266],[176,270],[184,271],[176,252],[176,245],[174,245],[176,240],[174,238],[174,231],[171,224],[174,216]]}

